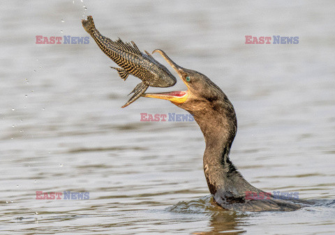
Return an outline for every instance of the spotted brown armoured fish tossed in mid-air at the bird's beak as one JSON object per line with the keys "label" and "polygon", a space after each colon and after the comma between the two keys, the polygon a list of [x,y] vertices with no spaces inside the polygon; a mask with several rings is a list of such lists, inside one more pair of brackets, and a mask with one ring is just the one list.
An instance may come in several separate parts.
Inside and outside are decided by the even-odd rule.
{"label": "spotted brown armoured fish tossed in mid-air at the bird's beak", "polygon": [[[98,47],[121,67],[117,68],[111,66],[111,68],[117,70],[122,79],[126,81],[128,75],[133,75],[142,80],[142,82],[137,84],[133,91],[131,91],[131,93],[134,93],[133,96],[122,108],[127,107],[140,98],[142,94],[147,91],[149,86],[169,87],[176,84],[177,79],[170,73],[168,68],[156,61],[149,52],[145,50],[145,54],[141,52],[133,41],[131,41],[131,43],[124,43],[120,38],[111,40],[101,35],[98,29],[96,29],[91,15],[87,16],[87,20],[82,20],[82,26],[95,40]],[[129,93],[129,95],[131,93]]]}

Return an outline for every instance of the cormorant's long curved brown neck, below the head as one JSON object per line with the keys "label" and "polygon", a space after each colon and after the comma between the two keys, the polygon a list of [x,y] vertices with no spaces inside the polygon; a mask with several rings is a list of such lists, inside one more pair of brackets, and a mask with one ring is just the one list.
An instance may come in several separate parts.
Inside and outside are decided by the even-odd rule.
{"label": "cormorant's long curved brown neck, below the head", "polygon": [[[234,107],[228,99],[212,101],[201,111],[192,112],[206,142],[204,175],[209,191],[220,197],[234,198],[246,190],[254,190],[237,172],[229,158],[230,147],[237,132]],[[257,190],[257,189],[255,189]]]}

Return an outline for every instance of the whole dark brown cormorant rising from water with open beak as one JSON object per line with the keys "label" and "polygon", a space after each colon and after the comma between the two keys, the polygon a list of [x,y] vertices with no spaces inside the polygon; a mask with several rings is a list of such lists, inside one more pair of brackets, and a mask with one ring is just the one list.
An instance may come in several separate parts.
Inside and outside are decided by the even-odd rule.
{"label": "whole dark brown cormorant rising from water with open beak", "polygon": [[144,93],[142,96],[170,100],[194,116],[206,143],[203,158],[204,175],[209,192],[218,206],[232,211],[295,211],[314,204],[301,199],[278,199],[269,194],[265,199],[246,197],[246,192],[256,195],[264,195],[266,192],[248,183],[230,161],[230,147],[237,132],[237,118],[232,103],[225,93],[202,73],[178,66],[162,50],[154,52],[160,53],[168,61],[188,89]]}

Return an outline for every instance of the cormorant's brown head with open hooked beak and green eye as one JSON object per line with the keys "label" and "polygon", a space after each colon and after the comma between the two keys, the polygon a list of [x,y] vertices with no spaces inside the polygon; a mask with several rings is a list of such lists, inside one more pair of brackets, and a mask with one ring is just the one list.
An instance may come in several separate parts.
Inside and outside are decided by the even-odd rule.
{"label": "cormorant's brown head with open hooked beak and green eye", "polygon": [[[222,109],[230,106],[225,93],[211,82],[211,80],[195,70],[178,66],[162,50],[154,50],[160,53],[166,61],[176,70],[179,77],[187,86],[187,91],[171,91],[164,93],[144,93],[142,96],[170,100],[174,105],[185,109],[191,114],[205,112],[206,109]],[[153,53],[154,53],[153,52]],[[228,101],[228,103],[226,103]],[[226,103],[226,104],[224,104]],[[232,105],[231,105],[232,106]],[[233,109],[233,108],[232,108]]]}

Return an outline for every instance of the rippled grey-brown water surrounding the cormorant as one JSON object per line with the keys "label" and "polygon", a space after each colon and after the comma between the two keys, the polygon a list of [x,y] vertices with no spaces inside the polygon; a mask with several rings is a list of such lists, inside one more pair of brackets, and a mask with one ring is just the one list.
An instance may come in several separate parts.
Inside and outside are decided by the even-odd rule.
{"label": "rippled grey-brown water surrounding the cormorant", "polygon": [[[0,16],[0,233],[334,234],[335,209],[327,205],[335,195],[334,7],[7,1]],[[289,213],[211,206],[197,124],[140,121],[141,112],[184,110],[149,98],[121,109],[139,80],[120,79],[91,38],[36,45],[38,35],[87,36],[83,14],[105,36],[162,49],[210,77],[236,109],[231,159],[244,177],[323,206]],[[246,35],[299,36],[299,44],[245,45]],[[164,91],[184,88],[179,80]],[[35,199],[36,191],[66,190],[87,191],[89,199]]]}

